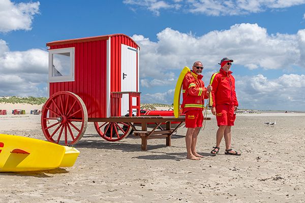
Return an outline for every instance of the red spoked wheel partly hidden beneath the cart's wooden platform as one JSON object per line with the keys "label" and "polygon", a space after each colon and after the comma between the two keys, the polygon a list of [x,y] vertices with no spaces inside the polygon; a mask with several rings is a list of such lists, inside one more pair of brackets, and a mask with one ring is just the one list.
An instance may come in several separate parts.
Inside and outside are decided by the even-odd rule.
{"label": "red spoked wheel partly hidden beneath the cart's wooden platform", "polygon": [[107,141],[119,141],[131,131],[131,126],[123,122],[94,122],[98,134]]}

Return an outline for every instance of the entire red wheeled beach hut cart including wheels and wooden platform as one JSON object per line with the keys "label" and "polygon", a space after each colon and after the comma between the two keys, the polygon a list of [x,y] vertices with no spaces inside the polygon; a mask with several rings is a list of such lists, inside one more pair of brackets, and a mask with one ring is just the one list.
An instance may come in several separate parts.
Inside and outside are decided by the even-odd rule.
{"label": "entire red wheeled beach hut cart including wheels and wooden platform", "polygon": [[[75,145],[87,122],[94,122],[97,133],[110,142],[133,130],[141,137],[143,150],[147,140],[154,138],[166,138],[170,146],[172,134],[185,118],[140,115],[140,48],[130,37],[115,34],[47,46],[49,98],[41,112],[41,125],[48,141]],[[154,125],[148,128],[148,124]]]}

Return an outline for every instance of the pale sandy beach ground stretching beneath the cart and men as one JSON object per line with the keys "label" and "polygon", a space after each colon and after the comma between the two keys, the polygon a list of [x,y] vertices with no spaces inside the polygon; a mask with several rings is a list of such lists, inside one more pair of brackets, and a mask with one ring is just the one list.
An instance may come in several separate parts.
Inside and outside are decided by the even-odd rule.
{"label": "pale sandy beach ground stretching beneath the cart and men", "polygon": [[[209,115],[209,117],[212,117]],[[186,128],[165,139],[129,136],[107,142],[88,123],[75,145],[73,167],[0,173],[0,202],[305,202],[305,114],[238,114],[233,149],[242,155],[210,156],[216,119],[200,131],[199,161],[186,159]],[[276,126],[264,124],[275,121]],[[0,132],[45,140],[39,115],[0,116]]]}

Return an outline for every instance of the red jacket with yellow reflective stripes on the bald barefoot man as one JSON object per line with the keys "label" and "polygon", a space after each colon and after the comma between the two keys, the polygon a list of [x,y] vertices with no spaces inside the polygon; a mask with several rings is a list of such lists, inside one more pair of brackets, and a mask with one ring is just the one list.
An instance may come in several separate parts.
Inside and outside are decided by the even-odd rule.
{"label": "red jacket with yellow reflective stripes on the bald barefoot man", "polygon": [[186,113],[189,110],[203,110],[204,99],[208,98],[206,95],[206,88],[204,82],[201,80],[202,75],[197,75],[192,71],[189,72],[182,83],[182,112]]}

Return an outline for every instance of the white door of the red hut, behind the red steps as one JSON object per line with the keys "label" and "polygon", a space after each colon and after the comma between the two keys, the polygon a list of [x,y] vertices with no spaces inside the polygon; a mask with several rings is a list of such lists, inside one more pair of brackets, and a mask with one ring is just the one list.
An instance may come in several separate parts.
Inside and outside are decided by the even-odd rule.
{"label": "white door of the red hut, behind the red steps", "polygon": [[[137,49],[124,44],[121,45],[121,91],[137,91]],[[136,98],[133,98],[132,102],[136,105]],[[129,97],[128,94],[123,94],[121,115],[125,116],[127,113],[129,113]]]}

